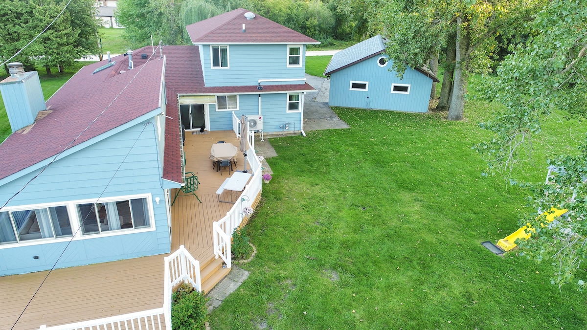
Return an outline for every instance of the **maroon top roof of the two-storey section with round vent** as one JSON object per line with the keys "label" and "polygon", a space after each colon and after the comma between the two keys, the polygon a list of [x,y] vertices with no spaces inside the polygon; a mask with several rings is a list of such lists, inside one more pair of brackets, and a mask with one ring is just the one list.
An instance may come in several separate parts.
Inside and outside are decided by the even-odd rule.
{"label": "maroon top roof of the two-storey section with round vent", "polygon": [[[191,42],[203,43],[311,43],[320,42],[255,14],[247,19],[247,9],[238,8],[185,26]],[[242,32],[242,25],[245,32]]]}

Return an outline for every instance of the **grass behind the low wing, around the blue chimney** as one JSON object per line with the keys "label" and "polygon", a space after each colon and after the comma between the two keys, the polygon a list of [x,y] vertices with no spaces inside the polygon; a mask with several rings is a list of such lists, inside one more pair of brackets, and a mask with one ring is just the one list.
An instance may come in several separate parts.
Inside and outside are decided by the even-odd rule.
{"label": "grass behind the low wing, around the blue chimney", "polygon": [[[44,68],[39,68],[39,80],[41,80],[41,88],[43,90],[43,96],[45,96],[45,100],[48,100],[49,97],[53,95],[53,93],[57,92],[57,90],[63,86],[65,82],[69,80],[82,66],[88,65],[94,62],[76,62],[74,65],[65,68],[65,72],[63,73],[56,73],[53,70],[53,76],[47,76],[46,70]],[[2,70],[2,74],[0,75],[0,81],[4,80],[8,75],[6,71]],[[8,137],[12,133],[10,128],[10,123],[8,122],[8,115],[6,115],[6,107],[4,106],[4,100],[2,100],[2,96],[0,96],[0,142],[4,141],[6,137]]]}

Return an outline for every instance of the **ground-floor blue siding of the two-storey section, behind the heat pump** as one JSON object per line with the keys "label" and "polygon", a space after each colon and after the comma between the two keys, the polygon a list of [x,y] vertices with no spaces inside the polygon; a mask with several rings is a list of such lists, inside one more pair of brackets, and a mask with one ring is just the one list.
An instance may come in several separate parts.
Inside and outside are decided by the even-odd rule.
{"label": "ground-floor blue siding of the two-storey section, behind the heat pump", "polygon": [[[290,124],[289,130],[300,129],[301,113],[286,113],[287,93],[261,94],[261,114],[263,115],[263,132],[281,132],[279,125]],[[238,96],[238,111],[235,115],[257,115],[259,113],[259,95],[247,94]],[[210,105],[211,130],[232,130],[232,112],[215,111],[215,105]]]}

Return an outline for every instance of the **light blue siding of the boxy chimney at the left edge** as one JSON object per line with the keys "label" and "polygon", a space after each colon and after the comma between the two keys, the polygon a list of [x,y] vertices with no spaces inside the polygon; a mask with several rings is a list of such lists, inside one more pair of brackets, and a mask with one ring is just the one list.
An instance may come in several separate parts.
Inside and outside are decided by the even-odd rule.
{"label": "light blue siding of the boxy chimney at the left edge", "polygon": [[39,111],[46,109],[36,71],[25,72],[18,83],[1,84],[0,90],[12,132],[34,123]]}

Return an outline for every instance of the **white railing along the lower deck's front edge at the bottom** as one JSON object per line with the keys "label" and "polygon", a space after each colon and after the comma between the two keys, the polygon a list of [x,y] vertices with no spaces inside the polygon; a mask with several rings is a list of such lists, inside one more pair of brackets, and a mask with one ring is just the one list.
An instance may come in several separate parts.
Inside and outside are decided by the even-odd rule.
{"label": "white railing along the lower deck's front edge at the bottom", "polygon": [[82,321],[66,325],[41,325],[39,330],[171,330],[171,321],[169,321],[169,323],[166,321],[164,328],[161,326],[163,324],[162,321],[164,316],[167,316],[164,314],[164,308],[157,308],[150,309],[149,311],[109,316],[107,318],[93,319],[90,321]]}

